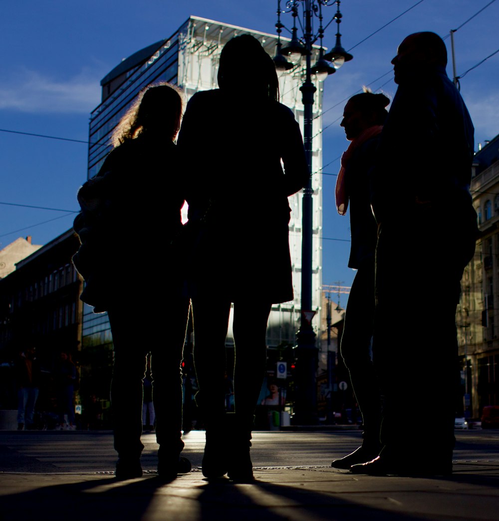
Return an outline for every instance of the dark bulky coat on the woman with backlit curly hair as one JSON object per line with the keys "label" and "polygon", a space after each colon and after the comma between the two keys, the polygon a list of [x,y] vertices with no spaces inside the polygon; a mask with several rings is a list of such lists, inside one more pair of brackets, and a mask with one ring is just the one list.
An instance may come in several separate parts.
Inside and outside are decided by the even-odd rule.
{"label": "dark bulky coat on the woman with backlit curly hair", "polygon": [[81,246],[73,263],[85,279],[81,300],[97,313],[123,299],[154,297],[159,269],[175,269],[170,244],[182,229],[174,143],[142,134],[114,148],[78,202],[73,228]]}

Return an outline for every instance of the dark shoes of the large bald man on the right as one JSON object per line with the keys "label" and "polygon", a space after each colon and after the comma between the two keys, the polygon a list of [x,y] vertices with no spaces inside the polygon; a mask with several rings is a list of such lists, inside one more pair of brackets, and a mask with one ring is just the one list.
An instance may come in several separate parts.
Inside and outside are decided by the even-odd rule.
{"label": "dark shoes of the large bald man on the right", "polygon": [[368,476],[447,476],[452,474],[452,462],[412,461],[404,458],[394,462],[391,458],[378,456],[367,463],[353,465],[350,472]]}

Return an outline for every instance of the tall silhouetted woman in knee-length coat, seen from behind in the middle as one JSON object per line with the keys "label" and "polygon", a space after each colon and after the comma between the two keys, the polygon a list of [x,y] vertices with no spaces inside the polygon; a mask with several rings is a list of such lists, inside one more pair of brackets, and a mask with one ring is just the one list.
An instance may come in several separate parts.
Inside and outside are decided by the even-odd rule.
{"label": "tall silhouetted woman in knee-length coat, seen from behind in the middle", "polygon": [[[293,299],[288,196],[305,185],[308,173],[298,123],[278,103],[275,67],[253,36],[224,46],[218,85],[191,98],[179,135],[189,221],[198,229],[192,259],[196,402],[206,426],[203,474],[245,481],[253,479],[249,440],[266,369],[270,307]],[[231,303],[235,419],[229,425],[224,371]]]}

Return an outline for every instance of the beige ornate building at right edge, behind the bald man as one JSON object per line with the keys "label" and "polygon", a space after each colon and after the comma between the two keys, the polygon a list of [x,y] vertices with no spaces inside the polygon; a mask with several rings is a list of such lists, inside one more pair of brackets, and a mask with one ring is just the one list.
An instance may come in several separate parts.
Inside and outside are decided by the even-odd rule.
{"label": "beige ornate building at right edge, behind the bald man", "polygon": [[475,154],[470,191],[480,233],[456,325],[464,413],[479,417],[485,405],[499,405],[499,135]]}

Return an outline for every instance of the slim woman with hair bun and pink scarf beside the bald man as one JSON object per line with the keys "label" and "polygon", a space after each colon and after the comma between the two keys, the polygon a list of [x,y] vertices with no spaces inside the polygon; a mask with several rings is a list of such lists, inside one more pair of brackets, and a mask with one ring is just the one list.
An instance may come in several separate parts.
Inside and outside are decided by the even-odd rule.
{"label": "slim woman with hair bun and pink scarf beside the bald man", "polygon": [[365,90],[348,100],[341,126],[351,141],[341,158],[336,181],[336,206],[346,214],[350,203],[352,245],[348,267],[356,269],[348,296],[345,325],[341,337],[341,355],[350,373],[363,418],[362,445],[352,454],[335,460],[331,466],[350,468],[375,458],[380,450],[381,398],[372,365],[370,346],[375,313],[375,251],[378,235],[370,201],[370,174],[382,125],[390,100],[383,94]]}

